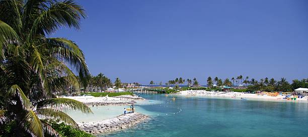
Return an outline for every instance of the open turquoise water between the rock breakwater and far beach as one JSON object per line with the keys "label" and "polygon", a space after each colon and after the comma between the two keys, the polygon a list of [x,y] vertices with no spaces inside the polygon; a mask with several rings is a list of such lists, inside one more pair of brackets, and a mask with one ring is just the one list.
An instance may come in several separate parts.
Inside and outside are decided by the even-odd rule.
{"label": "open turquoise water between the rock breakwater and far beach", "polygon": [[[151,119],[102,136],[308,136],[308,103],[149,95]],[[137,110],[138,111],[138,110]]]}

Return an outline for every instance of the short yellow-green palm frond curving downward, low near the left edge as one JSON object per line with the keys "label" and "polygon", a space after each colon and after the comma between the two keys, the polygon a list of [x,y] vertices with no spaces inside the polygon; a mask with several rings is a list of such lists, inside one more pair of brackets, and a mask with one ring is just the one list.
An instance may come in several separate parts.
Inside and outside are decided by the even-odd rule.
{"label": "short yellow-green palm frond curving downward, low near the left edge", "polygon": [[7,93],[7,97],[17,96],[22,103],[24,109],[30,110],[32,103],[28,99],[28,97],[24,94],[22,89],[18,85],[12,85]]}

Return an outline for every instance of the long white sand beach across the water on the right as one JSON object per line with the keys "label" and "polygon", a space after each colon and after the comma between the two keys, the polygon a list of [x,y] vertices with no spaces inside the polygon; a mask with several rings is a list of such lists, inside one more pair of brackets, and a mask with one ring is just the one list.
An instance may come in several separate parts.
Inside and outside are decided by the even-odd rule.
{"label": "long white sand beach across the water on the right", "polygon": [[180,93],[177,95],[186,96],[186,97],[192,97],[192,96],[223,97],[223,98],[229,98],[229,99],[245,98],[245,99],[260,100],[260,101],[308,102],[307,97],[296,98],[296,100],[287,100],[287,99],[283,99],[284,95],[268,96],[268,95],[257,95],[257,94],[252,94],[252,93],[206,91],[206,90],[185,90],[185,91],[180,91]]}

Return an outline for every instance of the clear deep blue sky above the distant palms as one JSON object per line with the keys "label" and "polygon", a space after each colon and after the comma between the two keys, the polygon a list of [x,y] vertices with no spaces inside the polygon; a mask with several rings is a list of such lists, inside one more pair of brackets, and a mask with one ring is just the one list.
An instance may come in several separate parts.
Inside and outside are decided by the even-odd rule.
{"label": "clear deep blue sky above the distant palms", "polygon": [[308,1],[80,1],[75,41],[93,75],[148,84],[176,77],[308,77]]}

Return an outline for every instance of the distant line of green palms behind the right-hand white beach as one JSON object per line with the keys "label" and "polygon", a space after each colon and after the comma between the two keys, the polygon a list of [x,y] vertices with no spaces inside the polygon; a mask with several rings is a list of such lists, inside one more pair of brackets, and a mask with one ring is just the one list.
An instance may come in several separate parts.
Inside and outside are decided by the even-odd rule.
{"label": "distant line of green palms behind the right-hand white beach", "polygon": [[[169,80],[165,83],[166,86],[179,86],[179,85],[186,85],[188,87],[198,87],[199,82],[196,78],[193,80],[191,79],[183,79],[175,78],[174,80]],[[254,91],[293,91],[294,89],[297,89],[299,87],[302,88],[308,88],[308,79],[302,79],[292,80],[292,83],[289,83],[285,78],[280,78],[279,80],[275,80],[274,78],[261,78],[260,80],[256,80],[255,78],[249,79],[248,76],[243,77],[242,75],[237,77],[232,77],[231,79],[225,78],[222,80],[221,78],[214,77],[207,77],[206,80],[207,87],[208,88],[221,88],[223,86],[228,87],[243,87],[247,88],[248,90],[254,90]],[[149,85],[154,85],[154,81],[150,81]],[[162,82],[160,82],[159,85],[162,85]]]}

